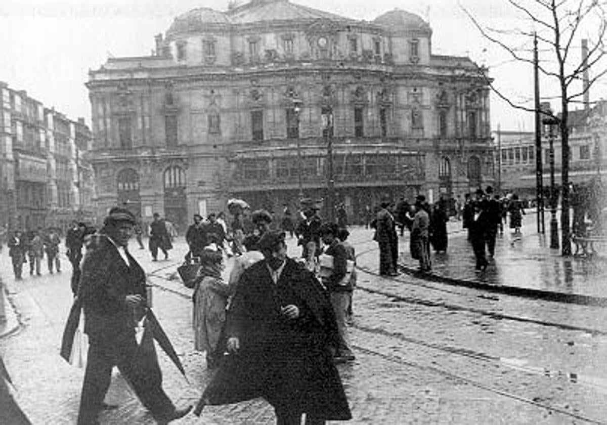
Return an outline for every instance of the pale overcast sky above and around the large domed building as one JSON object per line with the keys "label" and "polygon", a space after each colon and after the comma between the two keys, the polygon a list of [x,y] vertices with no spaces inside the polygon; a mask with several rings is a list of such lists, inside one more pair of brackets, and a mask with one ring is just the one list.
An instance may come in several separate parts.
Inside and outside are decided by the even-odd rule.
{"label": "pale overcast sky above and around the large domed building", "polygon": [[[479,21],[495,27],[522,25],[506,0],[291,1],[367,21],[397,7],[417,13],[433,29],[433,53],[468,55],[489,67],[495,85],[509,97],[532,99],[531,67],[511,61],[487,42],[461,9],[466,7]],[[203,6],[224,11],[227,4],[228,0],[0,0],[0,81],[90,123],[84,87],[89,69],[100,67],[109,55],[149,55],[154,35],[166,32],[175,16]],[[576,60],[578,52],[572,53]],[[599,98],[599,90],[605,88],[597,86],[591,98]],[[503,130],[531,130],[532,122],[530,114],[492,95],[492,129],[500,125]]]}

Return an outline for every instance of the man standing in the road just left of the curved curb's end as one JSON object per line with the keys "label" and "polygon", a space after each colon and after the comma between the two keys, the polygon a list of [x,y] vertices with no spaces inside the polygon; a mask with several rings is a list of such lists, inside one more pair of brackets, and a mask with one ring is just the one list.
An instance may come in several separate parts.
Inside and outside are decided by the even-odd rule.
{"label": "man standing in the road just left of the curved curb's end", "polygon": [[379,245],[379,274],[381,276],[396,276],[396,261],[398,260],[398,234],[396,222],[388,208],[390,201],[384,200],[372,227],[375,228],[373,240]]}

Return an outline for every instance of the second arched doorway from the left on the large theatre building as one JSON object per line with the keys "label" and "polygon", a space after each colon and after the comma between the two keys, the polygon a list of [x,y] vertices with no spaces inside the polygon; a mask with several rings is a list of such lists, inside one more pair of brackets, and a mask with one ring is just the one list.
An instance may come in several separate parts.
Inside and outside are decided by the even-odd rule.
{"label": "second arched doorway from the left on the large theatre building", "polygon": [[186,203],[186,174],[180,166],[164,170],[164,218],[183,233],[188,224]]}

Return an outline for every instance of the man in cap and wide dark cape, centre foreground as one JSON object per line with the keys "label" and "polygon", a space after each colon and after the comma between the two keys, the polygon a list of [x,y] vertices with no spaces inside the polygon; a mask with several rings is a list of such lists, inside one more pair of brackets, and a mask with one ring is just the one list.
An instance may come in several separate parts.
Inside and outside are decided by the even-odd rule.
{"label": "man in cap and wide dark cape, centre foreground", "polygon": [[333,364],[339,341],[327,293],[314,275],[287,257],[285,234],[266,233],[264,259],[240,277],[226,322],[232,354],[205,389],[205,404],[228,404],[262,396],[277,425],[320,425],[349,420],[350,408]]}

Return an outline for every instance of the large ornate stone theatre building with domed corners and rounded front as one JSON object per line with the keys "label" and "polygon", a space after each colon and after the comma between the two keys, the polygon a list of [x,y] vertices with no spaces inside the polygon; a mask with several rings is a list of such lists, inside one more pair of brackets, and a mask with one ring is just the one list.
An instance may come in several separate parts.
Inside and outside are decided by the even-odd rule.
{"label": "large ornate stone theatre building with domed corners and rounded front", "polygon": [[431,37],[402,10],[367,22],[288,0],[177,16],[154,55],[89,74],[100,213],[184,226],[228,197],[277,211],[334,186],[358,217],[492,183],[484,70]]}

